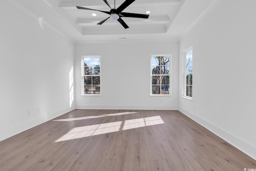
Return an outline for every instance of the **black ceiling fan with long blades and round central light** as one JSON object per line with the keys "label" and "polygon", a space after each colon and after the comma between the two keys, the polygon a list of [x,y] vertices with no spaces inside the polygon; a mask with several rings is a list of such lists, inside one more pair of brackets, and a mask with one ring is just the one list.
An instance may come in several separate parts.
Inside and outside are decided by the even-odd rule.
{"label": "black ceiling fan with long blades and round central light", "polygon": [[[111,9],[110,12],[108,11],[100,11],[100,10],[94,10],[94,9],[90,9],[90,8],[84,8],[84,7],[80,7],[80,6],[76,6],[76,8],[81,9],[81,10],[94,10],[94,11],[100,11],[100,12],[104,12],[106,14],[109,14],[110,16],[108,18],[111,18],[113,20],[117,20],[118,22],[120,22],[120,24],[122,24],[122,26],[127,29],[129,28],[127,26],[127,24],[124,22],[124,20],[122,20],[121,17],[132,17],[132,18],[148,18],[149,15],[146,14],[136,14],[136,13],[127,13],[127,12],[122,12],[125,8],[127,8],[130,4],[132,4],[132,2],[134,2],[135,0],[126,0],[124,1],[124,3],[122,3],[122,5],[120,5],[118,8],[116,8],[116,0],[114,0],[114,8],[111,8],[110,5],[108,4],[107,0],[103,0]],[[106,20],[108,20],[108,18],[106,18],[105,20],[102,20],[101,22],[99,22],[99,25],[102,25],[104,22],[106,22]]]}

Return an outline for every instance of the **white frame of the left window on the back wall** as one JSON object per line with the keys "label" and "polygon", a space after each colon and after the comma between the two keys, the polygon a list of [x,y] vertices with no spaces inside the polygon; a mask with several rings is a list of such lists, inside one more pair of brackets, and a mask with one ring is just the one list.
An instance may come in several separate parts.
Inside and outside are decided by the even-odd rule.
{"label": "white frame of the left window on the back wall", "polygon": [[[84,58],[100,58],[100,75],[91,75],[91,76],[99,76],[100,77],[100,93],[99,94],[85,94],[84,93],[84,77],[86,75],[84,75]],[[81,70],[82,70],[82,96],[101,96],[102,95],[102,88],[101,88],[101,56],[97,55],[97,56],[82,56],[82,61],[81,61]],[[93,86],[93,84],[92,84]]]}

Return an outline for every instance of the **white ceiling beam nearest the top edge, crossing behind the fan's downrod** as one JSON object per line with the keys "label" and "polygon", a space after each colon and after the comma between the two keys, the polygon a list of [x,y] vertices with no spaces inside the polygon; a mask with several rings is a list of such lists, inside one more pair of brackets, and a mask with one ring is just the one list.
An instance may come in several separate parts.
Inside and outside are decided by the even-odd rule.
{"label": "white ceiling beam nearest the top edge, crossing behind the fan's downrod", "polygon": [[[112,3],[110,3],[111,7],[114,7]],[[145,8],[145,7],[162,7],[162,6],[178,6],[180,4],[180,0],[140,0],[134,1],[129,8]],[[116,4],[116,6],[120,6],[121,4]],[[60,8],[63,11],[73,11],[78,10],[76,6],[82,6],[87,8],[92,8],[95,10],[100,9],[109,9],[109,7],[104,3],[104,1],[96,1],[96,0],[87,0],[87,1],[64,1],[60,4]]]}

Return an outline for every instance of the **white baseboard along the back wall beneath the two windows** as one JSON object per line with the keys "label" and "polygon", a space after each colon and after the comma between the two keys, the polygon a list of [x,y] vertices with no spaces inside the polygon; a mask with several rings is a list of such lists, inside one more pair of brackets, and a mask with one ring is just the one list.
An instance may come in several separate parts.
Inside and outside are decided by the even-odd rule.
{"label": "white baseboard along the back wall beneath the two windows", "polygon": [[178,106],[141,105],[76,105],[76,109],[123,109],[123,110],[178,110]]}

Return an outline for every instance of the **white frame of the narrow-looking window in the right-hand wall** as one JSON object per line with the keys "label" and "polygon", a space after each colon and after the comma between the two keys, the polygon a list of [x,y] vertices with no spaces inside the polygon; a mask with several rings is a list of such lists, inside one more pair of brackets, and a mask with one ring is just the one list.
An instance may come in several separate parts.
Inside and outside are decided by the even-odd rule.
{"label": "white frame of the narrow-looking window in the right-hand wall", "polygon": [[[192,77],[192,84],[191,85],[189,85],[190,83],[188,83],[188,85],[186,84],[186,76],[187,75],[190,75],[190,74],[192,74],[192,76],[193,76],[193,71],[192,72],[186,72],[186,65],[187,65],[187,61],[186,61],[186,53],[188,53],[188,52],[190,52],[190,51],[192,51],[192,66],[193,66],[193,47],[191,46],[191,47],[189,47],[188,49],[186,49],[185,51],[183,51],[183,84],[182,84],[182,89],[183,89],[183,95],[182,95],[182,97],[184,97],[184,98],[187,98],[187,99],[189,99],[189,100],[192,100],[192,97],[193,97],[193,94],[192,94],[192,96],[187,96],[186,95],[186,86],[192,86],[192,92],[193,92],[193,77]],[[193,67],[192,67],[193,68]],[[189,88],[188,88],[189,89]],[[189,93],[189,92],[188,92]],[[188,94],[189,95],[189,94]]]}

